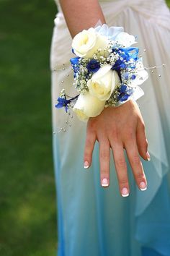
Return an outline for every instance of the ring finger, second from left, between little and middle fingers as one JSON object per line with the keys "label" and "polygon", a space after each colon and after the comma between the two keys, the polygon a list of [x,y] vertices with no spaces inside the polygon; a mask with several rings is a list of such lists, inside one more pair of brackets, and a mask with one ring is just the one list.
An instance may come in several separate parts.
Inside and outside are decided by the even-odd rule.
{"label": "ring finger, second from left, between little and middle fingers", "polygon": [[102,187],[109,186],[109,140],[99,139],[100,182]]}

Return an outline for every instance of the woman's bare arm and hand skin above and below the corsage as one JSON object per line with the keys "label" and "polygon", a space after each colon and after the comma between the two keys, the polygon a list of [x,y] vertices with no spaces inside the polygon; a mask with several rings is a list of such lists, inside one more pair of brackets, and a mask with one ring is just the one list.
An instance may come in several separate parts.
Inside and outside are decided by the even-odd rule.
{"label": "woman's bare arm and hand skin above and below the corsage", "polygon": [[[72,38],[81,30],[94,27],[100,20],[106,23],[97,0],[61,0]],[[83,10],[83,12],[82,12]],[[140,156],[150,160],[145,124],[137,103],[128,101],[117,108],[104,108],[99,116],[90,118],[86,127],[84,167],[89,168],[96,140],[99,142],[100,181],[102,187],[109,186],[110,148],[115,161],[120,195],[128,196],[130,187],[124,150],[139,189],[146,190],[147,181]]]}

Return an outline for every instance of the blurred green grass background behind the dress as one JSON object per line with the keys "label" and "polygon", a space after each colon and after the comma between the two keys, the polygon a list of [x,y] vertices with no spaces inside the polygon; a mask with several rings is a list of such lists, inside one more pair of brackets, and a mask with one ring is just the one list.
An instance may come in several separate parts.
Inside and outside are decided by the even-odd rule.
{"label": "blurred green grass background behind the dress", "polygon": [[0,0],[0,256],[56,251],[49,71],[55,13],[52,0]]}

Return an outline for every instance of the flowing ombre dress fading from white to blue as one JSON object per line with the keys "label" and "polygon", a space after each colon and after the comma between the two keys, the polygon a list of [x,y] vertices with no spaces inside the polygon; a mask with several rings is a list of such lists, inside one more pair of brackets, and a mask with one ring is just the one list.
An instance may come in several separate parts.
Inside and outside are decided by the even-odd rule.
{"label": "flowing ombre dress fading from white to blue", "polygon": [[[109,188],[102,188],[97,143],[91,168],[84,169],[86,124],[73,115],[68,127],[64,110],[55,108],[62,86],[76,95],[69,64],[71,35],[58,4],[50,54],[58,256],[170,256],[169,9],[163,0],[100,4],[108,25],[138,35],[146,67],[166,64],[150,74],[139,100],[151,154],[151,162],[143,161],[148,189],[138,189],[128,164],[130,195],[122,197],[113,160]],[[64,126],[66,132],[57,133]]]}

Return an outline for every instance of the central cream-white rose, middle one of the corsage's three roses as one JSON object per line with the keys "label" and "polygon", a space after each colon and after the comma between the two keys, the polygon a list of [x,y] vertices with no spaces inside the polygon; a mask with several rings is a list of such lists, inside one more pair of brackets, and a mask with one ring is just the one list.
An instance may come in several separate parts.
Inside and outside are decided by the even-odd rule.
{"label": "central cream-white rose, middle one of the corsage's three roses", "polygon": [[87,82],[89,93],[100,101],[107,101],[120,82],[117,72],[111,68],[109,64],[104,65]]}

